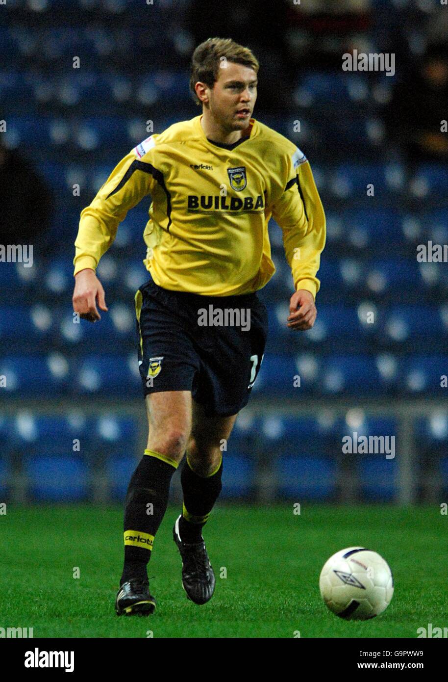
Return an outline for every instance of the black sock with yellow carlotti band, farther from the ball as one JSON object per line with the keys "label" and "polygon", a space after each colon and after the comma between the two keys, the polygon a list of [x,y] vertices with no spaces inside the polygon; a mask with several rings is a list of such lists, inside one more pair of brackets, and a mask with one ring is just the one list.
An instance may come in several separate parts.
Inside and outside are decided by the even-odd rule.
{"label": "black sock with yellow carlotti band, farther from the ball", "polygon": [[177,462],[153,450],[145,450],[135,469],[125,500],[125,565],[120,584],[147,580],[148,563],[157,529],[165,515],[170,482]]}

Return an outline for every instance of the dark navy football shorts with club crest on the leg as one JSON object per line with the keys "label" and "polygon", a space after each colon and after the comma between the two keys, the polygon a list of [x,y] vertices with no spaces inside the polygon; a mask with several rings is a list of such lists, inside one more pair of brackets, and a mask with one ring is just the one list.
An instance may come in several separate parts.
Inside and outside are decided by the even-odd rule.
{"label": "dark navy football shorts with club crest on the leg", "polygon": [[135,313],[145,396],[191,391],[208,417],[234,415],[249,402],[268,336],[256,293],[202,296],[150,280],[135,294]]}

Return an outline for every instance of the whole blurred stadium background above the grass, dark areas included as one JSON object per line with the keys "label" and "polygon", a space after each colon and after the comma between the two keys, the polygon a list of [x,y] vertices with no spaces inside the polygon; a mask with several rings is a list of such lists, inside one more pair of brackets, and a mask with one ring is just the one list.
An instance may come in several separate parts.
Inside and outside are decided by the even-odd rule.
{"label": "whole blurred stadium background above the grass, dark areas included", "polygon": [[[148,279],[150,199],[99,263],[109,312],[96,325],[72,316],[79,214],[147,121],[161,132],[200,113],[189,59],[215,35],[257,55],[255,117],[310,160],[328,232],[317,322],[291,333],[291,271],[270,223],[268,348],[221,499],[440,501],[448,270],[416,258],[421,243],[448,243],[448,7],[436,0],[0,7],[0,242],[33,244],[32,267],[0,263],[0,501],[124,498],[146,445],[133,296]],[[394,76],[345,72],[353,49],[394,53]],[[395,458],[342,454],[353,432],[396,436]]]}

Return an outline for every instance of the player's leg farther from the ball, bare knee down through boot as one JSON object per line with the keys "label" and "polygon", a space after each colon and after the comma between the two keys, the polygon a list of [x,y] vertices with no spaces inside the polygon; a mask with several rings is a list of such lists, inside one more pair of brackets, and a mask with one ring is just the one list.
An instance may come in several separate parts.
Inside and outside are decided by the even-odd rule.
{"label": "player's leg farther from the ball, bare knee down through boot", "polygon": [[125,563],[116,599],[117,614],[152,612],[146,565],[166,511],[170,482],[191,432],[191,392],[160,391],[146,396],[148,442],[125,501]]}

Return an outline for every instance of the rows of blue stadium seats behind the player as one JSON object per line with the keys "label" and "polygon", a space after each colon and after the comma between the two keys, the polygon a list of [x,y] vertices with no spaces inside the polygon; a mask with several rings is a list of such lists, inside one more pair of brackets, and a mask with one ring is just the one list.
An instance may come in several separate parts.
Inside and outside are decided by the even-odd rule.
{"label": "rows of blue stadium seats behind the player", "polygon": [[[0,375],[6,377],[1,400],[3,407],[9,402],[18,408],[31,401],[26,415],[3,414],[0,408],[2,495],[12,494],[19,481],[31,500],[99,499],[103,481],[102,494],[123,499],[138,455],[138,426],[135,417],[123,416],[123,405],[140,398],[133,294],[148,279],[142,232],[149,201],[128,214],[99,265],[109,313],[90,325],[74,323],[71,312],[80,210],[116,162],[147,136],[148,121],[157,132],[197,114],[188,91],[189,2],[154,3],[150,31],[135,20],[133,4],[8,0],[2,10],[12,18],[0,27],[3,143],[27,154],[55,201],[51,254],[35,252],[32,268],[0,266]],[[406,2],[400,6],[404,12]],[[110,23],[117,15],[119,30]],[[381,30],[394,30],[394,23]],[[163,39],[162,51],[155,35],[158,46]],[[82,68],[64,68],[74,55]],[[244,425],[243,417],[241,426],[237,421],[223,495],[262,496],[255,479],[269,455],[271,496],[337,498],[335,452],[342,427],[337,420],[323,426],[318,408],[314,417],[304,415],[301,406],[309,400],[411,400],[428,389],[445,397],[448,275],[443,263],[417,263],[415,254],[419,243],[447,240],[448,170],[441,164],[409,168],[400,149],[385,143],[385,108],[399,77],[306,70],[291,85],[287,113],[256,112],[310,159],[328,236],[317,323],[294,335],[285,327],[291,273],[281,229],[270,223],[277,272],[259,293],[270,313],[270,336],[253,390],[255,404],[271,402],[270,414],[252,424]],[[291,380],[296,375],[299,388]],[[65,406],[109,398],[115,410],[93,417],[55,410],[42,417],[33,413],[33,400],[42,395]],[[281,414],[288,400],[295,401],[299,417]],[[397,432],[386,408],[380,417],[377,433]],[[437,452],[441,485],[448,487],[447,412],[416,422],[415,436],[423,433],[427,455]],[[79,452],[74,439],[82,443]],[[394,499],[397,469],[385,459],[359,460],[362,499]]]}

